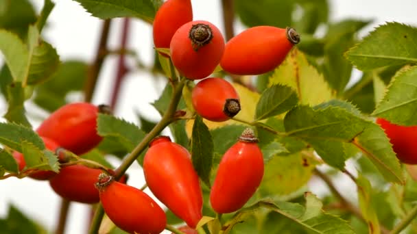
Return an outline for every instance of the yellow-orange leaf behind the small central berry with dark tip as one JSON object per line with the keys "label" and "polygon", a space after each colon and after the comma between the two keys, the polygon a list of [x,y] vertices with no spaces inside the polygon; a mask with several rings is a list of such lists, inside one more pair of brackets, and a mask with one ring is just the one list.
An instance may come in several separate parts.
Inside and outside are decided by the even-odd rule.
{"label": "yellow-orange leaf behind the small central berry with dark tip", "polygon": [[[244,120],[247,122],[252,122],[254,120],[255,110],[257,107],[257,103],[259,101],[259,97],[261,95],[257,92],[249,90],[245,86],[241,86],[238,83],[232,83],[232,85],[235,88],[237,94],[239,94],[239,101],[240,101],[240,106],[241,106],[241,110],[239,114],[235,116],[235,118],[238,118],[239,120]],[[227,120],[224,122],[213,122],[213,121],[206,120],[203,118],[203,122],[205,125],[207,125],[208,129],[217,129],[225,125],[243,125],[241,122],[237,122],[235,120]],[[193,123],[194,123],[194,120],[188,120],[186,124],[186,131],[189,137],[191,136]]]}

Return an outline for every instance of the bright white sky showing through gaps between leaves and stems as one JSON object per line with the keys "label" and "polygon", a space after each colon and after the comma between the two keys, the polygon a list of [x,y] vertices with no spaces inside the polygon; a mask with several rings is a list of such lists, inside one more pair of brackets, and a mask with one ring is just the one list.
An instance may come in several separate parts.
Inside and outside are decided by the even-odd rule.
{"label": "bright white sky showing through gaps between leaves and stems", "polygon": [[[56,47],[61,60],[80,59],[91,62],[97,47],[99,36],[100,21],[90,16],[75,1],[53,0],[56,3],[45,28],[43,36]],[[43,1],[32,0],[36,5],[37,12],[43,5]],[[385,21],[397,21],[417,25],[417,14],[415,9],[416,0],[330,0],[331,20],[339,21],[344,18],[374,19],[374,23],[361,31],[361,36],[366,35],[367,31],[373,27],[383,24]],[[193,14],[195,20],[211,21],[223,30],[222,16],[220,14],[220,1],[192,0]],[[121,20],[115,19],[112,22],[110,31],[110,48],[116,49],[119,44]],[[152,28],[150,25],[141,21],[132,21],[132,34],[128,40],[129,48],[139,53],[140,59],[145,64],[152,64]],[[243,27],[237,23],[237,32]],[[93,103],[108,103],[110,101],[112,79],[115,77],[116,65],[115,57],[106,59],[102,68],[100,82],[98,83]],[[0,57],[1,62],[1,57]],[[359,72],[354,73],[354,77],[359,77]],[[149,77],[146,73],[137,71],[126,76],[119,105],[115,114],[130,122],[137,123],[135,110],[139,110],[148,118],[158,119],[157,112],[149,104],[158,98],[165,83],[163,78],[155,87],[154,77]],[[73,96],[73,101],[81,101],[80,97]],[[45,118],[47,113],[32,105],[28,109],[34,109],[36,114]],[[0,102],[0,115],[5,113],[7,106],[3,101]],[[31,121],[36,128],[39,122]],[[115,164],[118,164],[117,160]],[[130,170],[130,180],[128,183],[135,187],[141,187],[144,183],[143,174],[139,166],[134,164]],[[343,176],[340,178],[340,188],[347,194],[355,194],[350,181]],[[326,188],[321,183],[316,183],[311,187],[313,192],[322,194]],[[8,204],[13,203],[31,218],[41,222],[50,231],[55,228],[58,218],[58,206],[60,198],[51,190],[45,181],[35,181],[32,179],[5,179],[0,181],[0,217],[5,216]],[[343,193],[342,193],[343,194]],[[355,196],[355,195],[352,195]],[[88,219],[88,206],[80,203],[73,203],[67,233],[85,233],[86,220]]]}

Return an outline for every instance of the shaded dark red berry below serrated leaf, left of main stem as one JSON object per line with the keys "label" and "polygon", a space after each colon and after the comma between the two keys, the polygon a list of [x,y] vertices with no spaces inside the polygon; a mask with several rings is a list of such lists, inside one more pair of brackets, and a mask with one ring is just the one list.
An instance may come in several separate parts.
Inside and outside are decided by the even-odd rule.
{"label": "shaded dark red berry below serrated leaf, left of main stem", "polygon": [[62,198],[79,203],[98,203],[99,192],[95,183],[102,170],[82,165],[66,166],[49,180],[53,191]]}

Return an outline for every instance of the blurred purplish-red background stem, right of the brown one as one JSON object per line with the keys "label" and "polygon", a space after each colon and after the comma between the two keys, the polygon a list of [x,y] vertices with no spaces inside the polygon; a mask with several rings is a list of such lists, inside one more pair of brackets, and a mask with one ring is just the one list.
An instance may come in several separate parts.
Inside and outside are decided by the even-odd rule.
{"label": "blurred purplish-red background stem, right of the brown one", "polygon": [[[123,19],[123,31],[121,32],[121,39],[120,39],[120,50],[126,51],[126,45],[128,44],[128,36],[129,36],[129,25],[130,19],[124,18]],[[110,99],[110,107],[112,110],[115,109],[117,100],[119,99],[119,92],[121,87],[121,82],[123,81],[123,77],[128,73],[128,68],[126,67],[126,53],[120,53],[119,59],[117,61],[117,73],[115,77],[115,83],[113,85],[112,90],[112,97]]]}

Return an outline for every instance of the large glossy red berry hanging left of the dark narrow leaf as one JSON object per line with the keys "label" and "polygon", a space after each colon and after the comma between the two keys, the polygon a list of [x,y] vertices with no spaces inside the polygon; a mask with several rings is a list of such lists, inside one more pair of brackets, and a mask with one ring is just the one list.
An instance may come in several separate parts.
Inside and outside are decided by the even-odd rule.
{"label": "large glossy red berry hanging left of the dark narrow leaf", "polygon": [[187,149],[169,137],[155,138],[143,159],[143,172],[156,198],[195,228],[202,218],[202,191]]}

